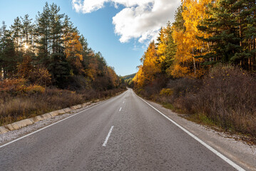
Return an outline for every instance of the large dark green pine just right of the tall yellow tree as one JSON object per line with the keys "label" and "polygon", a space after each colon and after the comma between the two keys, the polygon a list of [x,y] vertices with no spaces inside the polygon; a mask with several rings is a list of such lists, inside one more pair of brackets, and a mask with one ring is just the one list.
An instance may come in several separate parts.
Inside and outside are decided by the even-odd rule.
{"label": "large dark green pine just right of the tall yellow tree", "polygon": [[205,19],[203,25],[198,26],[200,31],[205,31],[211,36],[199,37],[201,40],[211,44],[210,53],[200,56],[210,63],[228,63],[234,60],[236,53],[242,52],[239,29],[237,22],[237,7],[235,0],[220,0],[216,4],[209,4],[208,13],[210,19]]}

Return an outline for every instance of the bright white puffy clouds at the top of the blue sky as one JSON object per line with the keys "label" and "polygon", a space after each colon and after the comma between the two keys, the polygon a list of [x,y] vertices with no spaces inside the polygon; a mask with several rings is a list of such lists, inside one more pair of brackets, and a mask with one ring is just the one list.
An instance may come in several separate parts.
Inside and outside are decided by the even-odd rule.
{"label": "bright white puffy clouds at the top of the blue sky", "polygon": [[140,43],[153,40],[168,21],[173,21],[180,0],[72,0],[73,9],[84,14],[97,11],[110,2],[125,6],[113,17],[115,33],[122,43],[136,38]]}

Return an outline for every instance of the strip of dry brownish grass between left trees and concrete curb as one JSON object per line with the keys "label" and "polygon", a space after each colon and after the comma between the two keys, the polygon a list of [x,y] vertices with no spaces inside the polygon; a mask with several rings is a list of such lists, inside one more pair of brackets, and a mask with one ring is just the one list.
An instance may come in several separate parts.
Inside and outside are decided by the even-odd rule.
{"label": "strip of dry brownish grass between left trees and concrete curb", "polygon": [[72,105],[96,99],[103,100],[122,91],[122,88],[104,91],[91,89],[78,92],[46,88],[43,93],[23,93],[18,95],[0,93],[0,125],[14,123],[53,110],[68,108]]}

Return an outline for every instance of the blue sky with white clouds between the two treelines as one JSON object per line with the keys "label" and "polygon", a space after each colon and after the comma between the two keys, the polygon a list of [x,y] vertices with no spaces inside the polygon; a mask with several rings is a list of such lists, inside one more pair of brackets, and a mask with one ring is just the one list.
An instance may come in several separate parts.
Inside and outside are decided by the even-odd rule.
{"label": "blue sky with white clouds between the two treelines", "polygon": [[[149,41],[161,26],[173,21],[179,0],[48,0],[61,7],[87,38],[94,51],[101,51],[118,75],[137,72]],[[0,21],[9,27],[17,16],[35,19],[46,0],[0,0]],[[167,6],[167,7],[166,7]],[[158,10],[161,9],[161,10]],[[162,10],[163,9],[163,10]]]}

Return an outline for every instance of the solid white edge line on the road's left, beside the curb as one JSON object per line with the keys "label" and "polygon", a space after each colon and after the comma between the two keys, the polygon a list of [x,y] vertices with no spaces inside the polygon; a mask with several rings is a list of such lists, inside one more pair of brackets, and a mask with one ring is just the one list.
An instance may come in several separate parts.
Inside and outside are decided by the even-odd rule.
{"label": "solid white edge line on the road's left, beside the curb", "polygon": [[[116,96],[116,97],[118,97],[118,96]],[[89,110],[89,109],[94,108],[94,107],[96,107],[96,106],[98,106],[98,105],[101,105],[102,103],[106,103],[107,101],[112,100],[112,99],[113,99],[113,98],[108,99],[108,100],[106,100],[106,101],[103,101],[103,102],[101,102],[101,103],[99,103],[99,104],[97,104],[97,105],[93,105],[93,106],[91,106],[90,108],[87,108],[87,109],[85,109],[85,110],[82,110],[81,112],[78,112],[78,113],[76,113],[76,114],[73,114],[73,115],[71,115],[71,116],[68,116],[67,118],[64,118],[64,119],[62,119],[62,120],[58,120],[58,122],[56,122],[56,123],[52,123],[51,125],[47,125],[46,127],[43,127],[43,128],[41,128],[41,129],[36,130],[36,131],[34,131],[34,132],[32,132],[32,133],[29,133],[29,134],[27,134],[27,135],[24,135],[23,137],[20,137],[20,138],[17,138],[17,139],[15,139],[15,140],[12,140],[12,141],[10,141],[10,142],[7,142],[7,143],[5,143],[4,145],[1,145],[0,148],[1,148],[1,147],[4,147],[4,146],[6,146],[6,145],[9,145],[9,144],[11,144],[11,143],[13,143],[13,142],[16,142],[16,141],[18,141],[18,140],[21,140],[21,139],[23,139],[23,138],[26,138],[26,137],[28,137],[29,135],[32,135],[32,134],[37,133],[37,132],[39,132],[39,131],[41,131],[41,130],[44,130],[44,129],[46,129],[46,128],[52,126],[52,125],[55,125],[55,124],[57,124],[57,123],[60,123],[60,122],[62,122],[63,120],[66,120],[66,119],[68,119],[68,118],[72,118],[72,117],[75,116],[75,115],[78,115],[78,114],[80,114],[80,113],[83,113],[83,112],[86,111],[86,110]]]}

